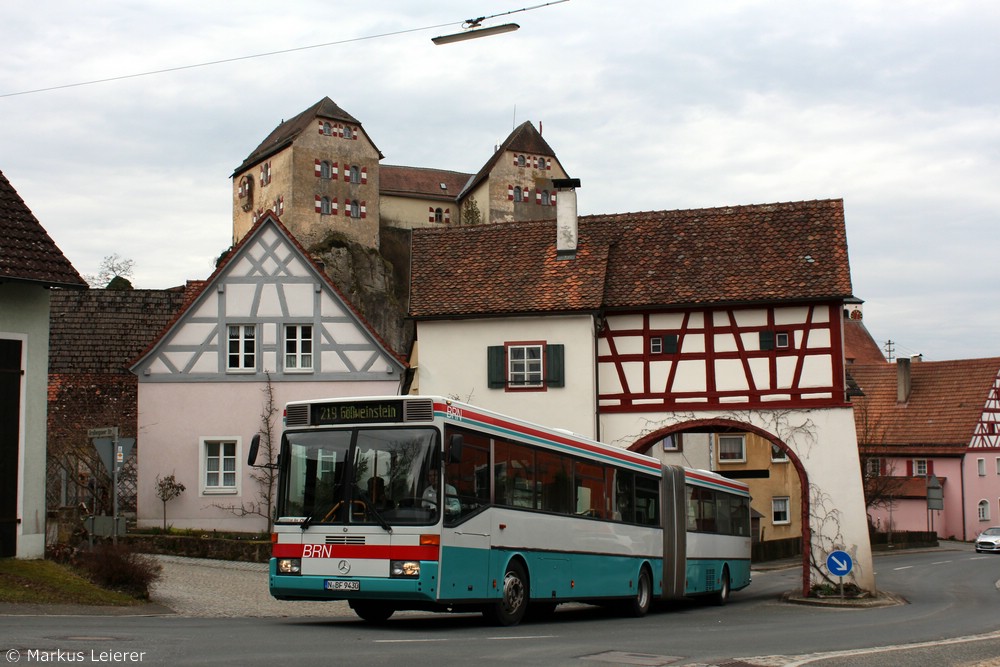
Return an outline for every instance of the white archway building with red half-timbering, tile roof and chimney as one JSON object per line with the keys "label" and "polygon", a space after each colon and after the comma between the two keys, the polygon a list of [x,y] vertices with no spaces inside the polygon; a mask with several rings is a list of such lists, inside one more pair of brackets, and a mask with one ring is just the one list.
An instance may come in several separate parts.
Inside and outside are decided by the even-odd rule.
{"label": "white archway building with red half-timbering, tile roof and chimney", "polygon": [[759,435],[797,471],[804,587],[837,547],[871,588],[843,202],[579,220],[575,191],[559,202],[556,220],[414,231],[419,391],[664,457],[675,434]]}

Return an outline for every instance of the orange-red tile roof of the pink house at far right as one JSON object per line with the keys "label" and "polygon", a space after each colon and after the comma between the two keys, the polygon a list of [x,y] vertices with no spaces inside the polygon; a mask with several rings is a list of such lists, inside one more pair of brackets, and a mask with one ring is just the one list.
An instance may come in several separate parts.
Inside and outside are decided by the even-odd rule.
{"label": "orange-red tile roof of the pink house at far right", "polygon": [[943,453],[972,440],[1000,357],[911,363],[905,403],[897,402],[896,364],[855,364],[848,372],[864,392],[851,400],[859,445]]}

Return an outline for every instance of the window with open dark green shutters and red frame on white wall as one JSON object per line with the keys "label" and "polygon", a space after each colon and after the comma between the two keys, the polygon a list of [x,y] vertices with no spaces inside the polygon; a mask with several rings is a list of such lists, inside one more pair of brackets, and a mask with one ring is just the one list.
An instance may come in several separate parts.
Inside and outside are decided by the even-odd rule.
{"label": "window with open dark green shutters and red frame on white wall", "polygon": [[565,386],[565,347],[551,343],[508,343],[486,350],[491,389],[545,389]]}

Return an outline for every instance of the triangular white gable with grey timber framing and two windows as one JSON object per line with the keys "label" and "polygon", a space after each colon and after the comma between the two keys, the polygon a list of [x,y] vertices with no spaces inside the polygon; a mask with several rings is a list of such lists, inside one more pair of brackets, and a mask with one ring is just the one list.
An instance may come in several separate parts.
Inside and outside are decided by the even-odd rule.
{"label": "triangular white gable with grey timber framing and two windows", "polygon": [[365,381],[403,365],[275,221],[261,221],[136,365],[140,382]]}

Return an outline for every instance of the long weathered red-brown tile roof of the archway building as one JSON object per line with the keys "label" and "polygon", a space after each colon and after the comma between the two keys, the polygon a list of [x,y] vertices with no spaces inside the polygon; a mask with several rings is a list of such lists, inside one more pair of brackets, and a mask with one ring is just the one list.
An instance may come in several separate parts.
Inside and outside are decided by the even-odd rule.
{"label": "long weathered red-brown tile roof of the archway building", "polygon": [[845,299],[843,202],[579,219],[575,259],[554,221],[413,233],[416,318]]}

